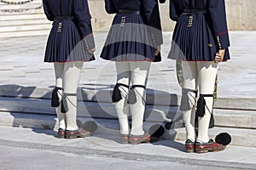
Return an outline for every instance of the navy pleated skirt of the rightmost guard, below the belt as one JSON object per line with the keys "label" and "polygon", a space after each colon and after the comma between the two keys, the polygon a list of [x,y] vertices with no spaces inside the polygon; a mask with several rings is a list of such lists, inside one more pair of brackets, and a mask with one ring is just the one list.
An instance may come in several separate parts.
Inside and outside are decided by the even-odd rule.
{"label": "navy pleated skirt of the rightmost guard, below the belt", "polygon": [[[218,43],[215,40],[212,27],[207,22],[207,14],[182,14],[172,35],[172,45],[169,59],[184,61],[213,61],[218,53]],[[226,49],[224,60],[230,59]]]}

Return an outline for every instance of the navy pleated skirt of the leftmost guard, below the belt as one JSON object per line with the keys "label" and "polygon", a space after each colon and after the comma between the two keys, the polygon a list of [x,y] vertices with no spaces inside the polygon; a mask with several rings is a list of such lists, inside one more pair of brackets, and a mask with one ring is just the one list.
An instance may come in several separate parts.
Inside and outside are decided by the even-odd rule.
{"label": "navy pleated skirt of the leftmost guard, below the belt", "polygon": [[44,62],[91,61],[84,40],[73,20],[56,20],[49,33]]}

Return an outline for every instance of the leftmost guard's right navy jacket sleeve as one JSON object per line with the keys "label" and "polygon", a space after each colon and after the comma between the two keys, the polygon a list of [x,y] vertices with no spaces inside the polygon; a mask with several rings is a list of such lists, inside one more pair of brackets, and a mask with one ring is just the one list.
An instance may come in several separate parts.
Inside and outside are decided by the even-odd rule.
{"label": "leftmost guard's right navy jacket sleeve", "polygon": [[90,23],[90,12],[87,0],[74,0],[73,2],[75,18],[79,24],[79,30],[84,38],[87,49],[95,48],[94,37]]}

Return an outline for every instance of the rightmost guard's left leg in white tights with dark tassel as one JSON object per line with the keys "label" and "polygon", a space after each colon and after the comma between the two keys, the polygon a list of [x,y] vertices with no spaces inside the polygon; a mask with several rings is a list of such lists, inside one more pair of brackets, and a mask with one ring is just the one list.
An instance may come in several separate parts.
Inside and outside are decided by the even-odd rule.
{"label": "rightmost guard's left leg in white tights with dark tassel", "polygon": [[197,96],[197,65],[196,62],[183,61],[183,94],[180,110],[186,128],[186,139],[191,141],[191,147],[195,142],[195,99]]}

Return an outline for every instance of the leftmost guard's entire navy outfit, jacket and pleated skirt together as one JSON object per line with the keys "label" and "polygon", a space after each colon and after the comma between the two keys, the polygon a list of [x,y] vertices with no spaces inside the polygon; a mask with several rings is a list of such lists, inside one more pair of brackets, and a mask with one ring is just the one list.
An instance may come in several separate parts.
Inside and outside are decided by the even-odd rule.
{"label": "leftmost guard's entire navy outfit, jacket and pleated skirt together", "polygon": [[95,48],[87,0],[43,0],[44,13],[53,21],[44,62],[90,61]]}

